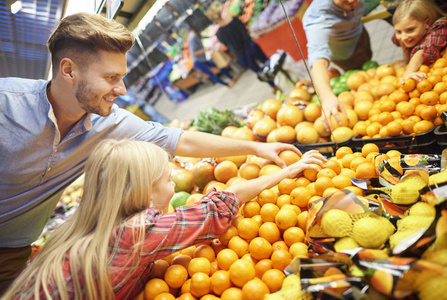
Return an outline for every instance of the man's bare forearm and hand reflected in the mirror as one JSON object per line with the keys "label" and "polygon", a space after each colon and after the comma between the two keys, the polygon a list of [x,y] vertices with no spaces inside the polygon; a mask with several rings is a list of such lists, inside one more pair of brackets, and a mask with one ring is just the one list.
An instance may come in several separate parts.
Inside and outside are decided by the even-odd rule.
{"label": "man's bare forearm and hand reflected in the mirror", "polygon": [[329,83],[328,68],[329,61],[324,58],[317,59],[312,64],[311,68],[313,83],[321,101],[321,108],[324,112],[323,116],[327,118],[322,118],[323,126],[327,130],[332,127],[330,123],[330,118],[332,115],[335,117],[338,124],[341,124],[341,118],[338,113],[341,112],[346,115],[346,111],[340,100],[337,96],[335,96],[334,92],[332,92],[332,88]]}

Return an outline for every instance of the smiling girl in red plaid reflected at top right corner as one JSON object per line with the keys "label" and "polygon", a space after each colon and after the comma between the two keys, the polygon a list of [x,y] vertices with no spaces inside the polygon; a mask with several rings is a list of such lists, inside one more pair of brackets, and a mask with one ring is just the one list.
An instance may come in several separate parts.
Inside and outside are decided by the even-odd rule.
{"label": "smiling girl in red plaid reflected at top right corner", "polygon": [[421,65],[435,62],[447,45],[447,17],[431,0],[403,0],[393,15],[393,42],[401,46],[408,67],[402,80],[420,81],[427,74]]}

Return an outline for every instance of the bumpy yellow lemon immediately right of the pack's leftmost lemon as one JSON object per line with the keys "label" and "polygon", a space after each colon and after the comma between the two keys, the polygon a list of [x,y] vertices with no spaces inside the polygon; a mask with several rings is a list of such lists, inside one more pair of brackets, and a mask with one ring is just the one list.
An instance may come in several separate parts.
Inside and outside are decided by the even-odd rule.
{"label": "bumpy yellow lemon immediately right of the pack's leftmost lemon", "polygon": [[362,247],[378,248],[388,240],[388,232],[378,219],[365,217],[354,223],[352,237]]}

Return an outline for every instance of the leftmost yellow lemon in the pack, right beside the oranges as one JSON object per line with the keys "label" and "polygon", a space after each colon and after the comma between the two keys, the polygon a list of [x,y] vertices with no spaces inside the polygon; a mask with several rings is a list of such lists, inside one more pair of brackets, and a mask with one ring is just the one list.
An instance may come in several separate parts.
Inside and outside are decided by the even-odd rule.
{"label": "leftmost yellow lemon in the pack, right beside the oranges", "polygon": [[341,209],[330,209],[321,218],[323,231],[332,237],[345,237],[352,231],[349,214]]}

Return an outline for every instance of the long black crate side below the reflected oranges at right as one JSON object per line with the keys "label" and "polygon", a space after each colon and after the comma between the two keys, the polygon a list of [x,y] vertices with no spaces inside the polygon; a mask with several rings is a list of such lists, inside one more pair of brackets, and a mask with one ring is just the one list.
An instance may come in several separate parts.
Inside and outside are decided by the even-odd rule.
{"label": "long black crate side below the reflected oranges at right", "polygon": [[[389,150],[398,150],[403,154],[432,154],[441,153],[440,147],[436,142],[435,129],[433,127],[427,132],[420,134],[401,135],[393,137],[363,139],[361,135],[352,137],[353,151],[362,151],[363,145],[367,143],[376,144],[381,153]],[[447,133],[446,133],[447,134]],[[447,141],[447,135],[446,135]],[[446,142],[447,144],[447,142]]]}

